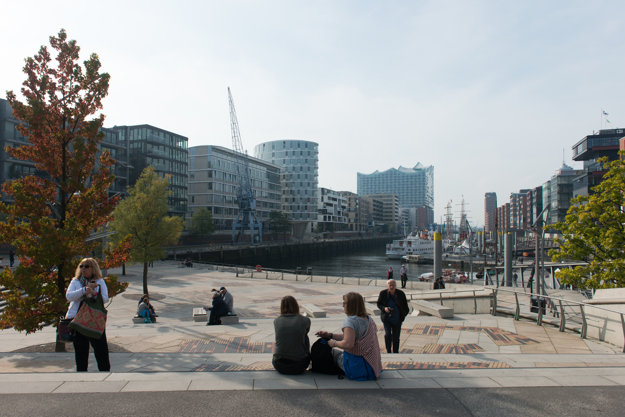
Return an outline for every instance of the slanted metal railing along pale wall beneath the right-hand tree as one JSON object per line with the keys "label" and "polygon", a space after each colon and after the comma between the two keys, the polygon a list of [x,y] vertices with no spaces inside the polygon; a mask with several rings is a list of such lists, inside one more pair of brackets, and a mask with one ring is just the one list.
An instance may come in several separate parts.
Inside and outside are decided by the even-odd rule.
{"label": "slanted metal railing along pale wall beneath the right-hand tree", "polygon": [[[559,330],[564,332],[566,329],[579,332],[580,336],[585,339],[588,336],[589,328],[589,309],[599,310],[607,313],[605,316],[594,315],[594,318],[598,321],[603,321],[603,324],[599,324],[598,328],[603,329],[605,333],[606,327],[609,321],[609,314],[618,315],[620,317],[620,327],[623,332],[623,352],[625,353],[625,313],[613,310],[597,305],[587,304],[579,301],[568,300],[561,297],[554,297],[545,294],[535,294],[532,292],[520,292],[513,289],[506,288],[492,288],[493,301],[491,314],[497,315],[497,312],[504,313],[506,307],[503,306],[505,300],[500,296],[500,293],[514,294],[513,306],[509,308],[509,313],[514,316],[515,320],[519,320],[521,313],[525,318],[531,318],[536,320],[536,324],[542,325],[543,321],[546,321],[545,315],[550,314],[553,318],[558,319],[552,321],[552,324],[557,324]],[[519,301],[519,296],[527,297],[529,303],[523,303]],[[528,309],[524,312],[525,308]],[[532,313],[536,313],[534,316]],[[528,314],[529,313],[529,314]],[[559,323],[558,323],[559,321]]]}

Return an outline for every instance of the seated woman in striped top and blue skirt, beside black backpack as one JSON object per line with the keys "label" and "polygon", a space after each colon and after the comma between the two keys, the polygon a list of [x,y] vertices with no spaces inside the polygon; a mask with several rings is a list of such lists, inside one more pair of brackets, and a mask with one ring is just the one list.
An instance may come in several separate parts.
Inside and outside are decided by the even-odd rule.
{"label": "seated woman in striped top and blue skirt, beside black backpack", "polygon": [[378,328],[367,314],[362,295],[348,292],[343,296],[343,309],[347,317],[343,322],[343,333],[318,331],[316,334],[330,339],[334,362],[349,379],[365,381],[376,379],[382,372],[382,358],[378,343]]}

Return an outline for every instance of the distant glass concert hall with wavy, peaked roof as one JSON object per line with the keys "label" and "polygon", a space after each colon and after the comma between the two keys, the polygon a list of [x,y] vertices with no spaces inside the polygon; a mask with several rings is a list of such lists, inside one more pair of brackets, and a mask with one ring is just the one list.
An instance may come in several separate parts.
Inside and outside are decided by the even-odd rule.
{"label": "distant glass concert hall with wavy, peaked roof", "polygon": [[434,167],[417,163],[413,168],[391,168],[358,173],[358,195],[394,194],[401,208],[421,207],[427,224],[434,223]]}

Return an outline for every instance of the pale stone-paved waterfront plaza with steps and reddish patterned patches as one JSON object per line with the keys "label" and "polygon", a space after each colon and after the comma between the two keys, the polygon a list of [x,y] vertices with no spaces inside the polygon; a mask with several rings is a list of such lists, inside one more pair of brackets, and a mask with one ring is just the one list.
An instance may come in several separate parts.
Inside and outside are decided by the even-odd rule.
{"label": "pale stone-paved waterfront plaza with steps and reddish patterned patches", "polygon": [[[54,396],[76,392],[372,389],[384,395],[385,390],[543,392],[547,387],[569,390],[575,386],[611,392],[625,386],[625,355],[618,347],[548,325],[489,314],[456,314],[450,320],[409,316],[402,326],[400,353],[382,355],[384,372],[377,381],[354,382],[310,372],[284,376],[271,366],[273,318],[282,296],[292,294],[300,304],[312,303],[327,312],[327,318],[312,319],[313,335],[320,329],[340,329],[342,294],[358,291],[371,297],[382,287],[370,285],[369,280],[359,286],[288,277],[237,278],[232,272],[202,265],[180,268],[173,262],[159,262],[149,279],[158,323],[133,324],[141,294],[141,270],[127,270],[128,275],[120,279],[129,282],[128,290],[108,307],[110,373],[97,372],[93,355],[90,371],[75,373],[73,353],[53,352],[53,328],[28,336],[8,329],[0,332],[0,392]],[[109,272],[120,274],[119,270]],[[384,282],[378,281],[379,285]],[[234,295],[240,323],[205,326],[194,322],[192,308],[207,304],[210,289],[222,285]],[[380,346],[384,346],[379,317],[376,322]]]}

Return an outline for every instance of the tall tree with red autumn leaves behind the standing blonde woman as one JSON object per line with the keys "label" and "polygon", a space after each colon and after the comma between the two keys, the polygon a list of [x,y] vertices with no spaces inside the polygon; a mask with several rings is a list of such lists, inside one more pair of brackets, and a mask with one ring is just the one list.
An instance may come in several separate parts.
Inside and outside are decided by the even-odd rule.
{"label": "tall tree with red autumn leaves behind the standing blonde woman", "polygon": [[0,275],[9,290],[3,294],[8,305],[0,324],[27,333],[65,312],[65,288],[77,263],[100,244],[88,237],[108,222],[117,201],[107,193],[114,161],[98,150],[104,116],[96,113],[109,75],[100,72],[96,54],[83,68],[80,48],[64,30],[50,37],[50,46],[54,60],[46,46],[25,60],[25,103],[7,91],[13,116],[21,122],[17,130],[28,144],[6,152],[33,162],[36,175],[2,187],[12,202],[0,204],[0,236],[16,247],[20,265]]}

